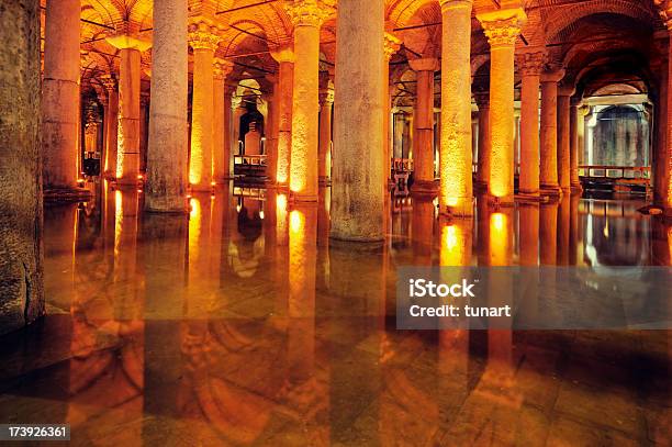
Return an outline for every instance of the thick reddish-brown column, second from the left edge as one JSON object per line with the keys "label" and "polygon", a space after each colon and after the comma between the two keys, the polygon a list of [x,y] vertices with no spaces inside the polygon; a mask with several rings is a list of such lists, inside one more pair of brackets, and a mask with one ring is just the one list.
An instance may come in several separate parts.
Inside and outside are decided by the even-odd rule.
{"label": "thick reddish-brown column, second from the left edge", "polygon": [[[80,0],[46,5],[42,86],[43,174],[46,188],[77,187]],[[36,90],[38,91],[38,90]]]}

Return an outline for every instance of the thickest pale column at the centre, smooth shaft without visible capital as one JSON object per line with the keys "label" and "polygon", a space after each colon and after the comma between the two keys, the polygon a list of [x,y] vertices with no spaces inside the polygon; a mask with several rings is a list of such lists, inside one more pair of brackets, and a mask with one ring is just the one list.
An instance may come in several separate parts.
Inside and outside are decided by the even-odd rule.
{"label": "thickest pale column at the centre, smooth shaft without visible capital", "polygon": [[384,238],[383,10],[384,0],[338,3],[331,230],[336,239]]}

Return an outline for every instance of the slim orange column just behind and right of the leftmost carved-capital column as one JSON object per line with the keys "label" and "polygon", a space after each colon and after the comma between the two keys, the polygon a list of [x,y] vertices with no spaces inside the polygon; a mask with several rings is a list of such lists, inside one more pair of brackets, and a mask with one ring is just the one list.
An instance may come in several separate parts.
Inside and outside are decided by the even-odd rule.
{"label": "slim orange column just behind and right of the leftmost carved-capital column", "polygon": [[[231,152],[227,150],[229,145],[225,141],[229,135],[226,120],[226,88],[224,81],[226,76],[233,69],[233,64],[224,59],[215,59],[214,62],[214,97],[213,97],[213,152],[212,152],[212,172],[215,183],[223,183],[231,178],[229,160]],[[228,99],[228,110],[231,113],[231,96]]]}

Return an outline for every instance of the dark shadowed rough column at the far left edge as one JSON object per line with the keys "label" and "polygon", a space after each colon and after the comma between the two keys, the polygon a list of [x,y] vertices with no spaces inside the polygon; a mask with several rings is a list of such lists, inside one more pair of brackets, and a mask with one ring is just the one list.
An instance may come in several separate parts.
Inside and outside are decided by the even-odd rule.
{"label": "dark shadowed rough column at the far left edge", "polygon": [[[60,3],[53,10],[58,10]],[[64,1],[64,13],[70,12],[69,1]],[[79,8],[79,1],[75,2]],[[48,7],[47,7],[48,8]],[[43,244],[42,244],[42,176],[40,141],[40,1],[4,1],[0,26],[0,334],[20,329],[44,314]],[[69,11],[70,10],[70,11]],[[56,12],[60,14],[60,12]],[[52,15],[54,19],[54,15]],[[77,15],[76,20],[79,20]],[[47,19],[48,22],[48,19]],[[66,22],[67,23],[67,22]],[[58,23],[53,23],[56,26]],[[47,24],[47,26],[49,26]],[[79,36],[79,23],[74,23]],[[65,32],[68,34],[71,30]],[[53,34],[47,32],[47,36]],[[67,44],[68,42],[65,42]],[[64,43],[55,42],[59,46]],[[79,48],[77,41],[76,48]],[[55,48],[54,48],[55,49]],[[52,64],[56,54],[52,53]],[[79,60],[79,57],[77,57]],[[77,66],[77,70],[79,70]],[[52,70],[52,72],[54,72]],[[67,71],[66,71],[67,72]],[[79,91],[75,78],[71,86],[59,86],[58,78],[51,80],[52,100],[58,93]],[[63,83],[67,83],[65,81]],[[43,86],[46,88],[46,85]],[[64,87],[60,89],[60,87]],[[67,98],[67,94],[66,94]],[[77,102],[76,102],[77,103]],[[56,105],[56,103],[52,103]],[[49,112],[43,109],[43,113]],[[43,116],[55,116],[45,114]],[[48,131],[59,128],[54,121]],[[66,128],[70,128],[66,126]],[[43,132],[47,128],[43,127]],[[56,149],[64,141],[45,145]],[[70,163],[75,163],[71,158]],[[58,167],[58,164],[55,164]],[[65,174],[57,169],[55,174]],[[59,177],[70,183],[69,177]],[[72,179],[72,180],[76,180]],[[59,235],[63,236],[63,235]],[[15,342],[19,343],[19,342]],[[3,346],[10,348],[8,342]],[[20,345],[11,346],[19,348]]]}

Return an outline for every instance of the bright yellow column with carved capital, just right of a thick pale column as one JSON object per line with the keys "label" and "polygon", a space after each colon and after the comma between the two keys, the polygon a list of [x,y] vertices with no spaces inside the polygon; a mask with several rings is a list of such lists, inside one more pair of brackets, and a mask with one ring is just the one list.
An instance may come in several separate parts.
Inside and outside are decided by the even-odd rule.
{"label": "bright yellow column with carved capital, just right of a thick pale column", "polygon": [[189,26],[189,45],[193,48],[193,93],[191,103],[191,157],[189,183],[193,191],[212,188],[214,53],[220,36],[205,21]]}

